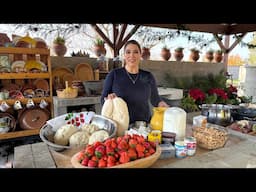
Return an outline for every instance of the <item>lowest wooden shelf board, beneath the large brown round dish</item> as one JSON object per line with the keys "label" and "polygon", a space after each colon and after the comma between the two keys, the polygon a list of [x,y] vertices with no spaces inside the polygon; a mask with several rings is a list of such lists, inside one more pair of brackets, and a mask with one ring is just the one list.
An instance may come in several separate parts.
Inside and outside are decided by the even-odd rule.
{"label": "lowest wooden shelf board, beneath the large brown round dish", "polygon": [[38,135],[39,131],[40,131],[40,129],[32,129],[32,130],[21,130],[21,131],[13,131],[13,132],[8,132],[8,133],[1,133],[0,140]]}

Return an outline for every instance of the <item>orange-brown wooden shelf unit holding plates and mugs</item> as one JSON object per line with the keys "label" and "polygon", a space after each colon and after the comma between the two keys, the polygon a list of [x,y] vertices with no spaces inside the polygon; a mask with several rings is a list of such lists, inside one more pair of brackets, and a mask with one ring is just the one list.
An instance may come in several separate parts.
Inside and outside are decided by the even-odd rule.
{"label": "orange-brown wooden shelf unit holding plates and mugs", "polygon": [[[44,99],[49,105],[48,110],[51,112],[51,117],[53,117],[53,102],[52,102],[52,75],[51,75],[51,59],[50,59],[50,50],[49,49],[40,49],[40,48],[18,48],[18,47],[0,47],[0,57],[8,57],[9,58],[9,68],[11,67],[12,63],[17,60],[37,60],[41,61],[45,64],[46,70],[45,71],[18,71],[13,72],[8,70],[2,70],[0,72],[0,82],[3,87],[3,84],[6,82],[11,82],[12,85],[15,85],[19,81],[25,82],[35,82],[36,80],[45,80],[49,84],[49,91],[47,96],[42,97],[32,97],[35,105],[39,105],[42,99]],[[1,62],[1,61],[0,61]],[[0,63],[0,69],[1,69]],[[5,84],[5,87],[7,85]],[[8,87],[8,86],[7,86]],[[13,107],[16,100],[20,100],[23,107],[26,107],[26,103],[29,98],[22,98],[22,99],[11,99],[10,97],[7,99],[0,98],[0,104],[5,101],[10,107]],[[17,117],[18,118],[18,117]],[[18,119],[16,119],[18,121]],[[24,137],[24,136],[31,136],[37,135],[39,133],[40,127],[31,129],[31,130],[22,130],[19,129],[19,125],[17,125],[15,131],[7,132],[7,133],[0,133],[0,140],[2,139],[11,139],[17,137]]]}

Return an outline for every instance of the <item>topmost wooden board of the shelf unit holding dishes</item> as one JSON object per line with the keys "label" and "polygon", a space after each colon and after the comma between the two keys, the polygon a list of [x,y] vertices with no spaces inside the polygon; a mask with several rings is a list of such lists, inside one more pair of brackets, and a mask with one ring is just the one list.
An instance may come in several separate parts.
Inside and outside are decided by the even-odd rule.
{"label": "topmost wooden board of the shelf unit holding dishes", "polygon": [[49,49],[22,48],[22,47],[0,47],[1,54],[41,54],[50,55]]}

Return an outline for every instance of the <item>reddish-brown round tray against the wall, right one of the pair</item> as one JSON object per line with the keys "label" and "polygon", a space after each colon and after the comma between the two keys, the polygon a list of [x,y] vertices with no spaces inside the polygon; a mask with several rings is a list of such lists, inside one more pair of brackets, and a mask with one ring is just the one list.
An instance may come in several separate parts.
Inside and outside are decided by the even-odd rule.
{"label": "reddish-brown round tray against the wall, right one of the pair", "polygon": [[75,67],[76,80],[90,81],[94,80],[93,70],[90,64],[80,63]]}

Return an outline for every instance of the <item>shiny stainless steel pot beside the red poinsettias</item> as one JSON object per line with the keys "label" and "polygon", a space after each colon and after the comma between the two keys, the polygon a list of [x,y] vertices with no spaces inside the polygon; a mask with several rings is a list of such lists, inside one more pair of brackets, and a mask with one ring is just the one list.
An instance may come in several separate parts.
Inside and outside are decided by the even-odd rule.
{"label": "shiny stainless steel pot beside the red poinsettias", "polygon": [[201,114],[207,116],[207,122],[227,126],[232,122],[231,107],[222,104],[203,104]]}

